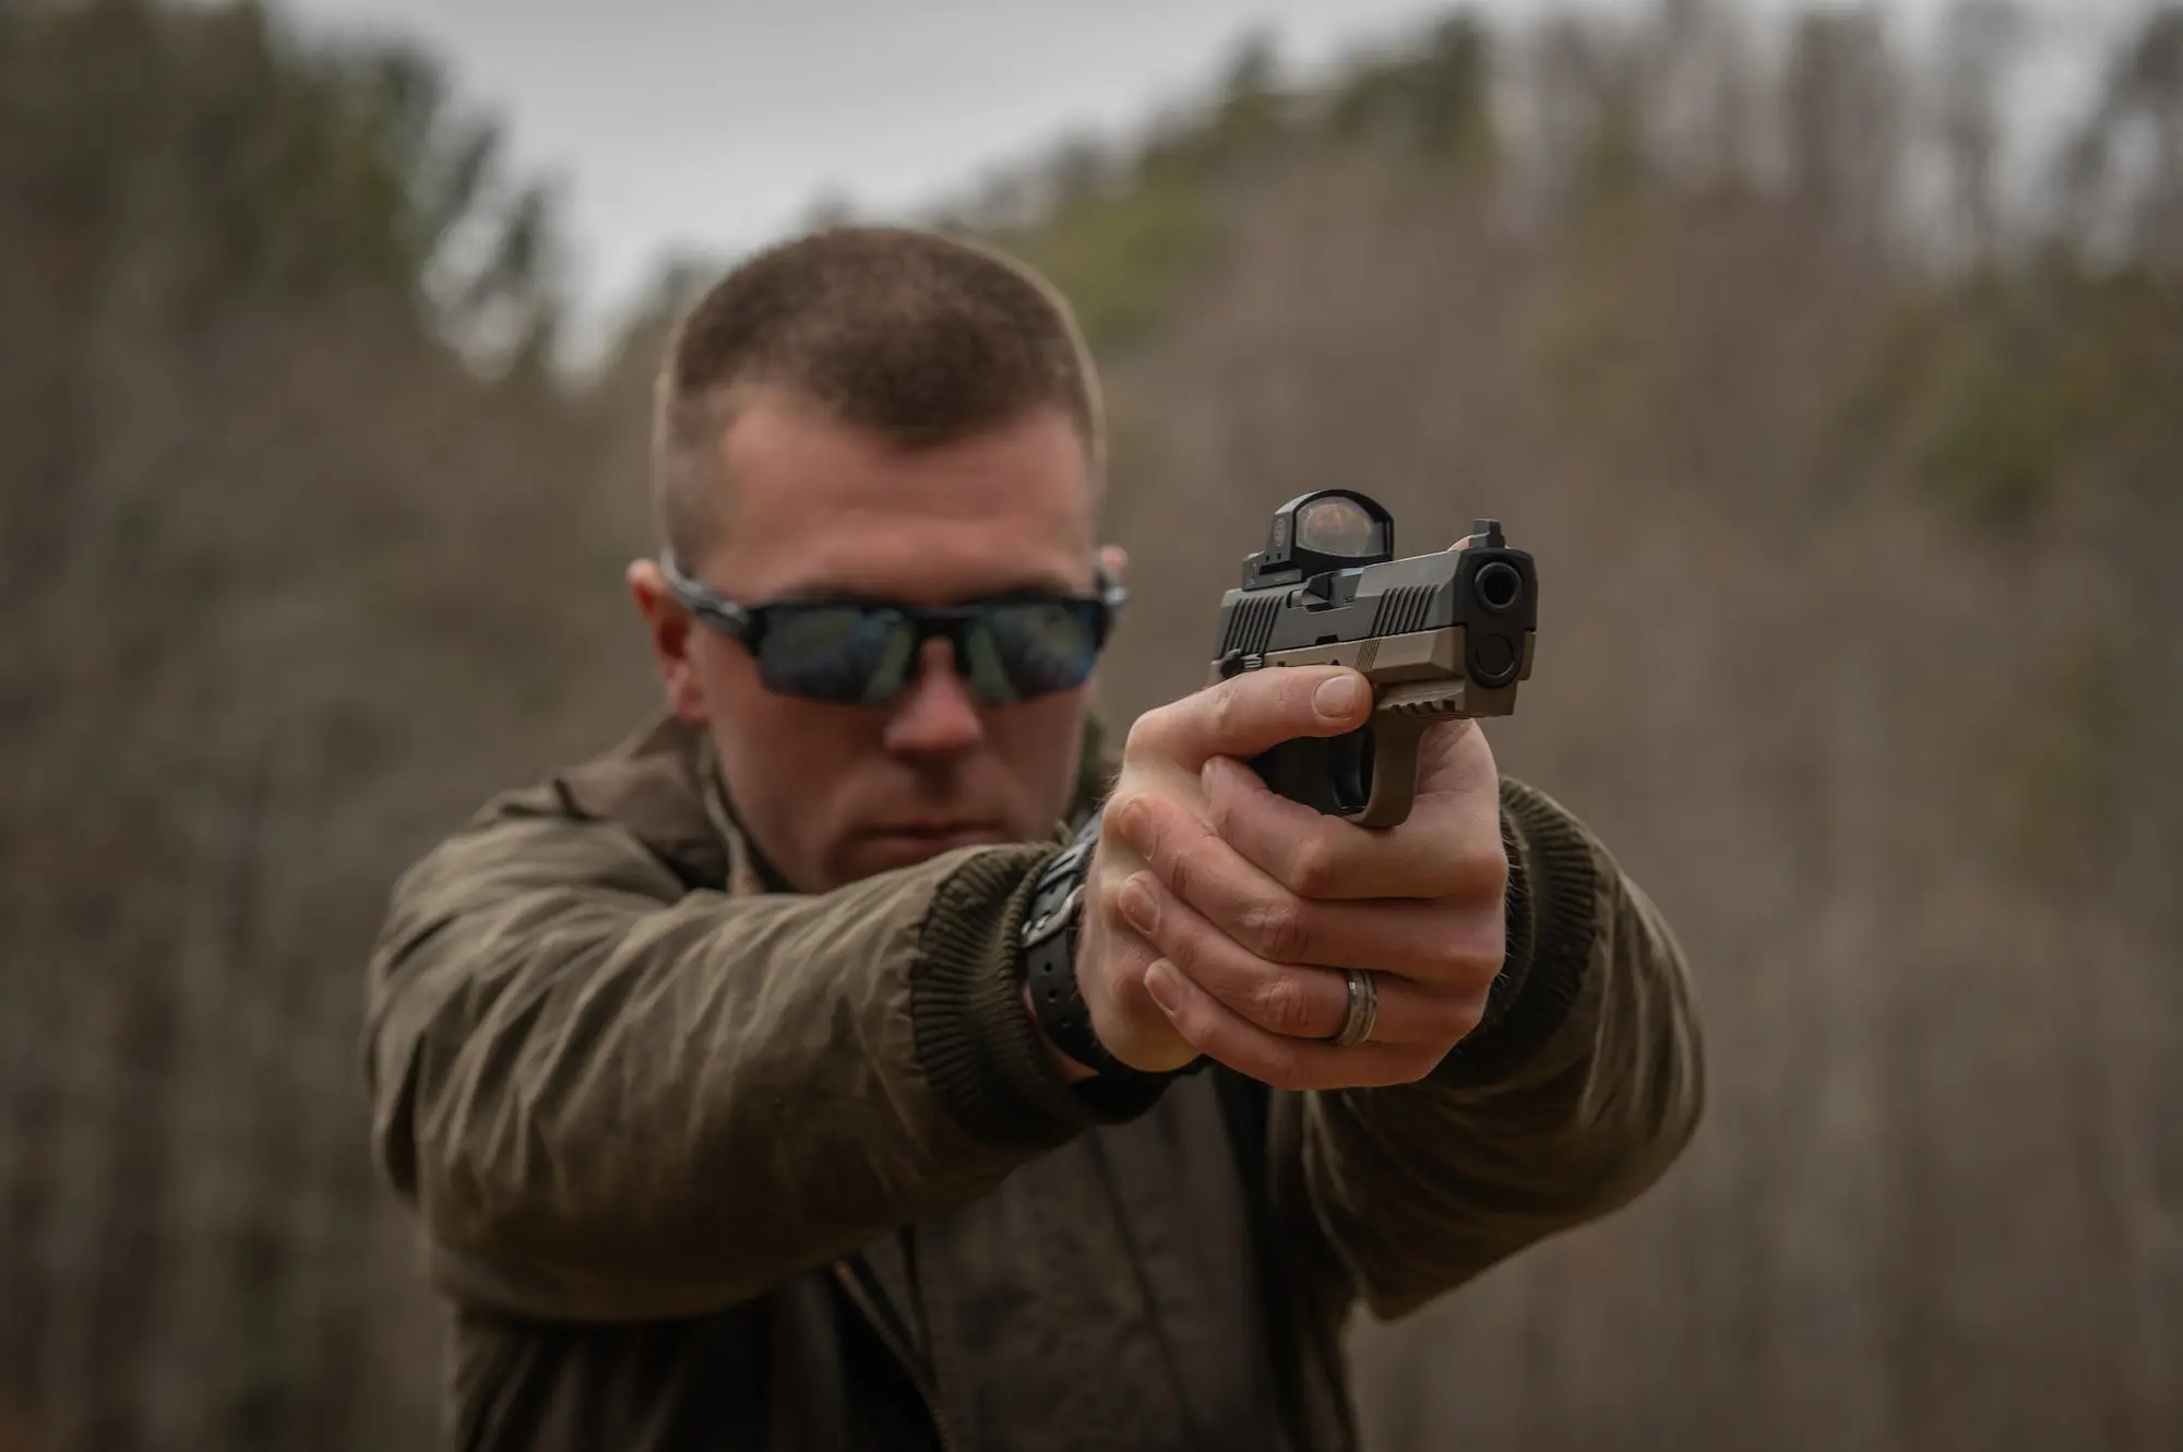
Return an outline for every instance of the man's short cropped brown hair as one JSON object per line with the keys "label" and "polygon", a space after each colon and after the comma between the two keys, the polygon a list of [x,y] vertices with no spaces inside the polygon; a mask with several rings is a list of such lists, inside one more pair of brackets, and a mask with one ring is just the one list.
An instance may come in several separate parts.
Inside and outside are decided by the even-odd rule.
{"label": "man's short cropped brown hair", "polygon": [[[720,439],[755,386],[784,386],[904,448],[952,443],[1054,404],[1098,489],[1098,376],[1067,301],[989,247],[836,227],[771,247],[683,314],[659,369],[653,511],[694,561],[720,531]],[[725,485],[725,487],[723,487]]]}

